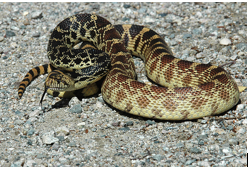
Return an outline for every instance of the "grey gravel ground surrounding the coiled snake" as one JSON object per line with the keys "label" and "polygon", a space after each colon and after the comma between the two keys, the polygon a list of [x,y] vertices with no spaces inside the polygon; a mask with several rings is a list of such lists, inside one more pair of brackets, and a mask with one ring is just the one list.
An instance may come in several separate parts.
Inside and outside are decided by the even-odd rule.
{"label": "grey gravel ground surrounding the coiled snake", "polygon": [[[247,85],[246,3],[0,3],[0,166],[216,166],[247,165],[247,98],[215,117],[159,121],[112,109],[101,94],[51,109],[39,105],[46,76],[21,100],[19,82],[48,63],[53,28],[76,13],[96,13],[114,24],[146,25],[176,57],[224,68]],[[147,81],[135,59],[140,81]]]}

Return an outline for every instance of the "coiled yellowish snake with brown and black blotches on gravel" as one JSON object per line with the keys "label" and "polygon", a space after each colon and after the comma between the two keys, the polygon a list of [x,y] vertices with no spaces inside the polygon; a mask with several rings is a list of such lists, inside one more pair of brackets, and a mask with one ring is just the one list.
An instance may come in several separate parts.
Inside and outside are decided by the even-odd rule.
{"label": "coiled yellowish snake with brown and black blotches on gravel", "polygon": [[[81,42],[89,47],[75,49]],[[19,98],[34,78],[48,73],[48,94],[88,96],[102,79],[107,104],[151,119],[214,116],[239,101],[238,86],[222,67],[174,57],[164,39],[142,25],[113,25],[99,15],[75,14],[55,27],[47,55],[50,63],[31,69],[21,81]],[[156,84],[137,80],[133,55],[144,61],[147,77]]]}

